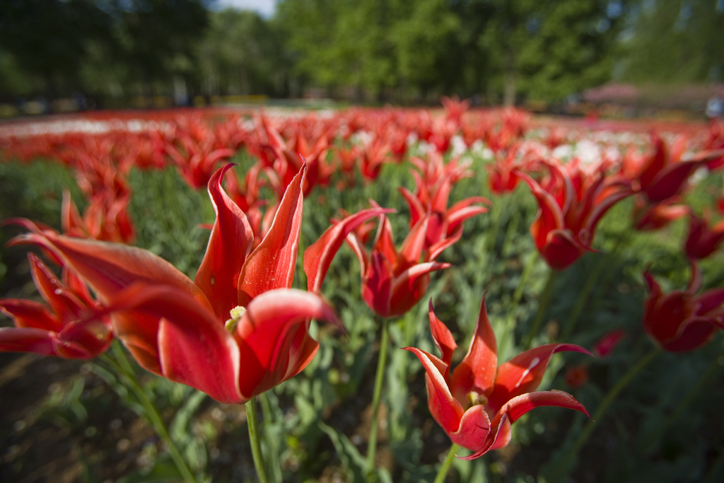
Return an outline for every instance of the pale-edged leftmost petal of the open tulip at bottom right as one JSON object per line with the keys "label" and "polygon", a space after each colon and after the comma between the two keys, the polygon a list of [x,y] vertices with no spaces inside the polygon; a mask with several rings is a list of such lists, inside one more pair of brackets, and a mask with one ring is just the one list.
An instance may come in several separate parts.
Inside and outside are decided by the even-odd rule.
{"label": "pale-edged leftmost petal of the open tulip at bottom right", "polygon": [[427,405],[432,417],[447,434],[457,432],[465,411],[460,402],[452,397],[442,375],[447,370],[447,364],[424,350],[414,347],[404,349],[415,354],[426,371]]}

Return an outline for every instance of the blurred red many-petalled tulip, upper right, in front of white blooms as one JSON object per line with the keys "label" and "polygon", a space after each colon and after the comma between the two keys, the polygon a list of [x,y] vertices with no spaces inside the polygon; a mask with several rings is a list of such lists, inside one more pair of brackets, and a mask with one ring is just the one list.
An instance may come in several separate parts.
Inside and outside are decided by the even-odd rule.
{"label": "blurred red many-petalled tulip, upper right, in front of white blooms", "polygon": [[625,182],[607,181],[602,168],[584,172],[576,160],[561,166],[542,161],[550,178],[542,182],[516,172],[531,188],[539,203],[531,235],[543,259],[552,269],[563,270],[592,250],[596,225],[615,203],[630,196]]}

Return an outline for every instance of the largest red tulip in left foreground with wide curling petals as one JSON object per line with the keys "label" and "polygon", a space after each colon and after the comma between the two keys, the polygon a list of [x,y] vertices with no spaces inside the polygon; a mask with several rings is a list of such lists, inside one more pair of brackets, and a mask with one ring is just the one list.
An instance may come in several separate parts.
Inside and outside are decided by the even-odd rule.
{"label": "largest red tulip in left foreground with wide curling petals", "polygon": [[308,334],[309,319],[340,322],[318,295],[290,289],[306,167],[253,250],[243,211],[222,189],[229,168],[209,180],[216,221],[193,281],[159,256],[127,245],[39,227],[14,243],[41,245],[80,274],[103,298],[114,334],[145,369],[223,403],[243,403],[311,361],[319,344]]}

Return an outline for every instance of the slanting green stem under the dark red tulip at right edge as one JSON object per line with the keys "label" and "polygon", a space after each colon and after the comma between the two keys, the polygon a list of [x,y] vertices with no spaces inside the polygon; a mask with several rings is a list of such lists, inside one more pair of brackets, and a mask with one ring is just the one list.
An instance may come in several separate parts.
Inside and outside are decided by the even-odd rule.
{"label": "slanting green stem under the dark red tulip at right edge", "polygon": [[631,369],[628,369],[628,371],[626,371],[626,373],[623,374],[620,379],[618,379],[618,382],[616,382],[616,384],[611,388],[605,398],[603,398],[601,403],[598,405],[598,408],[596,408],[596,412],[593,414],[592,419],[588,421],[588,424],[586,424],[586,427],[584,427],[581,434],[579,434],[578,438],[573,442],[571,448],[565,452],[563,458],[560,460],[560,464],[558,464],[553,470],[557,471],[557,474],[546,475],[547,481],[559,482],[565,479],[565,475],[568,474],[568,471],[571,471],[575,466],[576,455],[578,455],[578,451],[580,451],[581,448],[589,440],[589,437],[591,437],[591,435],[593,434],[594,429],[596,429],[596,425],[603,419],[603,416],[605,416],[608,408],[618,397],[619,393],[623,391],[626,386],[628,386],[628,383],[631,382],[634,377],[636,377],[636,374],[639,374],[639,372],[641,372],[644,367],[651,364],[651,362],[660,353],[661,348],[659,347],[649,350],[649,352],[641,357],[639,361],[636,362],[636,364],[631,366]]}

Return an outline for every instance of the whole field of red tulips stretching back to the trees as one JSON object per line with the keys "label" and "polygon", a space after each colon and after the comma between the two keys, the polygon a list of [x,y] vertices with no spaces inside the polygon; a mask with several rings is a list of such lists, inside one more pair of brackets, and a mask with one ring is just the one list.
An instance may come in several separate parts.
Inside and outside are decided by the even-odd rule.
{"label": "whole field of red tulips stretching back to the trees", "polygon": [[3,482],[724,481],[724,124],[0,124]]}

